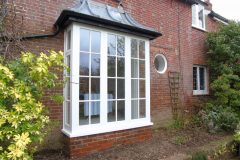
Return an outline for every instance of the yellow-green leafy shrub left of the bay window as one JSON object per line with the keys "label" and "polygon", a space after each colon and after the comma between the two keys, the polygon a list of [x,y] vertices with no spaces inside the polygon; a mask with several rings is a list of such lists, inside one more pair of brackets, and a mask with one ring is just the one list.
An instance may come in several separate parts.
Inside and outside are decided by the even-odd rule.
{"label": "yellow-green leafy shrub left of the bay window", "polygon": [[[1,58],[0,58],[1,59]],[[63,53],[22,53],[0,63],[0,159],[31,159],[49,122],[40,102],[46,88],[60,84]],[[56,83],[59,82],[58,83]]]}

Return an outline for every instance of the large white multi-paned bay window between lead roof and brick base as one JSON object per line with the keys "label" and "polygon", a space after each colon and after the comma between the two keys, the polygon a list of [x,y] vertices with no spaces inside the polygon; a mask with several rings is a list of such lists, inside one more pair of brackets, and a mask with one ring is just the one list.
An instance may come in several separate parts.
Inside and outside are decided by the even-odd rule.
{"label": "large white multi-paned bay window between lead roof and brick base", "polygon": [[152,125],[148,39],[73,23],[65,31],[65,63],[65,134]]}

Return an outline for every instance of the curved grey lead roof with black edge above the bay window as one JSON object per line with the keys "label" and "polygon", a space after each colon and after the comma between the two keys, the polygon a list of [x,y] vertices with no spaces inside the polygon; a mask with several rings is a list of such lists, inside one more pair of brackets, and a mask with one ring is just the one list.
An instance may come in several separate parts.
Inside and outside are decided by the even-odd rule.
{"label": "curved grey lead roof with black edge above the bay window", "polygon": [[162,35],[155,29],[138,23],[120,7],[114,8],[91,0],[81,0],[76,6],[63,10],[55,25],[64,28],[71,22],[103,27],[149,39]]}

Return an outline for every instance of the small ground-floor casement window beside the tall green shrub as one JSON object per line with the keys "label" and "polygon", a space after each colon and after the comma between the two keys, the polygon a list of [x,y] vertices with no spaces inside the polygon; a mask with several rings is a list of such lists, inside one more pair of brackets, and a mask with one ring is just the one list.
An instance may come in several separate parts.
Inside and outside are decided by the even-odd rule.
{"label": "small ground-floor casement window beside the tall green shrub", "polygon": [[193,95],[208,94],[208,70],[205,66],[193,66]]}

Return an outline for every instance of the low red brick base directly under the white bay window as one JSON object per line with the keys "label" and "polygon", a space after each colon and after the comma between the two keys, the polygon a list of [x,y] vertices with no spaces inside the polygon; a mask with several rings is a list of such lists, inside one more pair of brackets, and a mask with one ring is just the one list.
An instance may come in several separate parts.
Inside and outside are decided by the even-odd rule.
{"label": "low red brick base directly under the white bay window", "polygon": [[129,129],[80,138],[64,136],[66,154],[71,158],[100,152],[116,145],[142,142],[152,137],[151,127]]}

